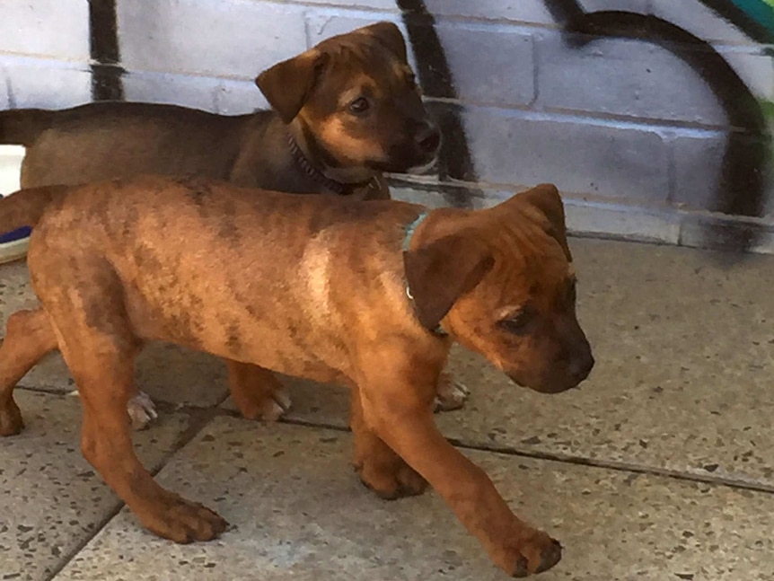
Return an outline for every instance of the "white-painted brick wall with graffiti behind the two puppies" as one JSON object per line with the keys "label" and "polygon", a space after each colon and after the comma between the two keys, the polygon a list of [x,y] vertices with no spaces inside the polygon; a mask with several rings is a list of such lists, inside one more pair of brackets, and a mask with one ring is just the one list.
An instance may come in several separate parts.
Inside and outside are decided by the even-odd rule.
{"label": "white-painted brick wall with graffiti behind the two puppies", "polygon": [[[739,159],[769,142],[762,113],[751,113],[749,102],[774,101],[768,31],[743,18],[742,0],[723,11],[699,0],[115,4],[126,99],[231,114],[266,105],[252,83],[260,70],[330,35],[378,20],[398,22],[415,42],[435,33],[450,77],[420,75],[427,101],[444,119],[461,120],[463,132],[445,137],[450,149],[470,152],[469,164],[441,176],[470,188],[462,198],[439,194],[438,204],[486,205],[505,191],[553,181],[566,192],[577,231],[685,243],[695,228],[683,222],[704,220],[707,210],[752,214],[742,222],[763,230],[774,212],[771,154]],[[423,4],[434,25],[398,4]],[[635,38],[577,34],[568,31],[571,8],[653,18]],[[615,16],[614,25],[625,18]],[[683,36],[669,29],[657,42],[661,22]],[[85,0],[4,0],[0,108],[92,100],[91,35]],[[712,58],[735,75],[739,95]],[[748,174],[755,199],[744,200],[745,188],[734,191],[728,180]]]}

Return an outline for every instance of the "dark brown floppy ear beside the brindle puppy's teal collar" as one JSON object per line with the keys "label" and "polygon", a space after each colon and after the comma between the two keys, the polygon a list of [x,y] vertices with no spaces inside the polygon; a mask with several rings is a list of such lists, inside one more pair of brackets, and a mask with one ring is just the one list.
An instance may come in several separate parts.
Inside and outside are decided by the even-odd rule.
{"label": "dark brown floppy ear beside the brindle puppy's teal collar", "polygon": [[403,252],[406,281],[422,326],[435,329],[457,299],[477,286],[494,262],[483,242],[460,233]]}

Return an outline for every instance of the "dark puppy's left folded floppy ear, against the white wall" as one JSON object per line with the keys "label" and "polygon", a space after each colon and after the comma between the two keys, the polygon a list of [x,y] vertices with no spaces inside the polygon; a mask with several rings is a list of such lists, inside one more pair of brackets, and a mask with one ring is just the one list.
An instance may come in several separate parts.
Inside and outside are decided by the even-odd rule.
{"label": "dark puppy's left folded floppy ear, against the white wall", "polygon": [[327,64],[327,53],[307,50],[266,69],[255,79],[255,84],[283,122],[290,123],[309,98]]}

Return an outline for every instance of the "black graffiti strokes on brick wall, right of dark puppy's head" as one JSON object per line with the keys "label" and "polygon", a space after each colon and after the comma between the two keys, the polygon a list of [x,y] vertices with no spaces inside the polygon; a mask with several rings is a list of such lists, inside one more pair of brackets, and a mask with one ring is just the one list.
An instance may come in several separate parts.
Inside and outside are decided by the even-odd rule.
{"label": "black graffiti strokes on brick wall, right of dark puppy's head", "polygon": [[[702,0],[702,3],[752,40],[766,44],[774,41],[774,0]],[[416,51],[423,86],[435,95],[454,99],[457,96],[454,72],[448,70],[444,61],[433,14],[428,13],[423,0],[397,0],[397,4],[403,11]],[[651,14],[620,10],[587,12],[576,0],[545,0],[545,4],[561,25],[569,48],[585,48],[607,38],[640,40],[670,51],[699,73],[726,111],[729,126],[713,209],[734,216],[761,216],[771,162],[766,113],[774,113],[774,107],[756,98],[734,67],[708,41]],[[447,145],[442,152],[441,177],[470,180],[476,172],[459,114],[444,118],[443,127]],[[461,203],[459,198],[447,199],[450,203]],[[733,232],[723,226],[723,231],[710,236],[722,242],[721,245],[739,250],[755,242],[753,233],[743,226]]]}

